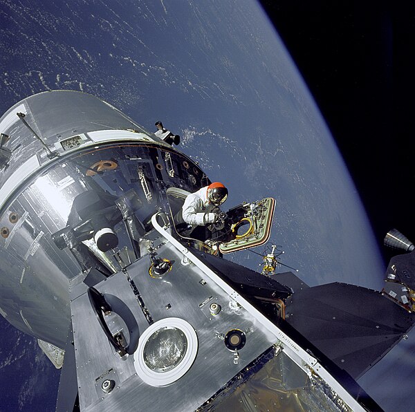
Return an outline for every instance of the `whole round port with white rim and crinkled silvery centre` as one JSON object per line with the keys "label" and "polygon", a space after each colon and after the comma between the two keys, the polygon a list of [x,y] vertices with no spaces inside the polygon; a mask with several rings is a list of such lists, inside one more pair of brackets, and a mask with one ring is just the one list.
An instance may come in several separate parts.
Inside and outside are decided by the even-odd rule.
{"label": "whole round port with white rim and crinkled silvery centre", "polygon": [[151,386],[171,384],[190,369],[197,348],[197,335],[192,325],[176,317],[161,319],[140,337],[134,353],[136,372]]}

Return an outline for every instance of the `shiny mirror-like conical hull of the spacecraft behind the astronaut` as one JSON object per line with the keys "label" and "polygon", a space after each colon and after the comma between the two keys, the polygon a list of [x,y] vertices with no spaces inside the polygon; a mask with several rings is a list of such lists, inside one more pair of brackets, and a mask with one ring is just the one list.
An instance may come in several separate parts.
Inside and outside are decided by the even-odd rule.
{"label": "shiny mirror-like conical hull of the spacecraft behind the astronaut", "polygon": [[[134,261],[151,216],[168,211],[164,189],[207,183],[186,156],[151,143],[103,143],[54,158],[0,215],[0,259],[10,263],[0,268],[1,314],[62,348],[72,279],[89,268],[109,276]],[[114,241],[100,248],[102,230]]]}

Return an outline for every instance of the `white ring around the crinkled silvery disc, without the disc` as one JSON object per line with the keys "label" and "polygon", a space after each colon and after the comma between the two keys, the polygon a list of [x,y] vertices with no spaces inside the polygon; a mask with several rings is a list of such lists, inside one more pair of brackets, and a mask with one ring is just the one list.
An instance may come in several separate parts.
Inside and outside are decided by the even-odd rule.
{"label": "white ring around the crinkled silvery disc, without the disc", "polygon": [[[165,327],[177,328],[184,333],[187,339],[187,350],[181,362],[171,371],[155,372],[152,371],[144,361],[144,348],[149,337],[151,337],[156,330]],[[194,359],[196,359],[197,349],[197,335],[192,325],[184,319],[180,319],[178,317],[166,317],[165,319],[160,319],[149,326],[140,336],[138,348],[133,355],[134,367],[136,368],[137,375],[146,384],[151,386],[166,386],[176,382],[176,380],[180,379],[187,371],[189,371],[192,367]]]}

